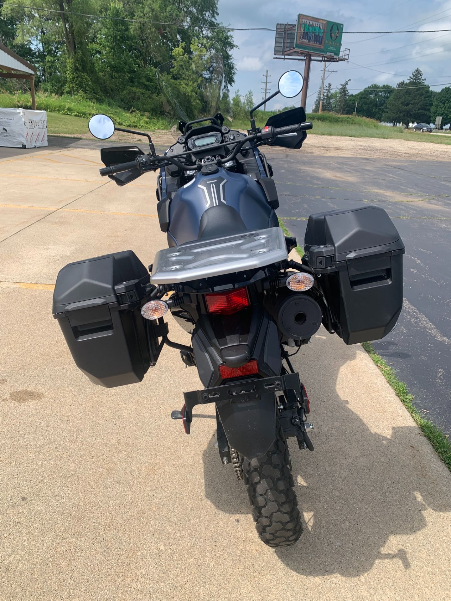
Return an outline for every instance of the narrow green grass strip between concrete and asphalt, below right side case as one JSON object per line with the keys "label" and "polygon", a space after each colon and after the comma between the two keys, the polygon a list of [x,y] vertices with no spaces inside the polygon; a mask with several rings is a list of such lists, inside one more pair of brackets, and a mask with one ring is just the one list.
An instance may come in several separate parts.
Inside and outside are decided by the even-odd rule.
{"label": "narrow green grass strip between concrete and asphalt, below right side case", "polygon": [[417,426],[431,443],[432,447],[434,447],[440,459],[451,471],[451,442],[449,436],[446,436],[430,419],[423,417],[422,412],[420,412],[412,403],[414,397],[408,391],[407,384],[397,379],[396,372],[380,355],[378,355],[378,353],[376,353],[372,344],[364,342],[362,343],[362,346],[378,366],[379,370],[381,370],[382,374],[384,374],[385,380],[387,380],[391,388],[393,388],[396,396],[406,407]]}

